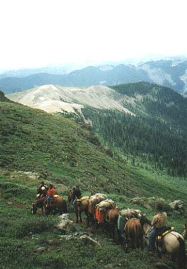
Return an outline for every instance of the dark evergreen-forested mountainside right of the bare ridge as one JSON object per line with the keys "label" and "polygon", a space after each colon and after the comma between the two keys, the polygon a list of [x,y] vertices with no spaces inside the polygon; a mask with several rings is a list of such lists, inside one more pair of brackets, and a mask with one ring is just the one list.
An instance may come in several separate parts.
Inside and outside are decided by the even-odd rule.
{"label": "dark evergreen-forested mountainside right of the bare ridge", "polygon": [[[186,175],[187,100],[172,89],[147,82],[112,86],[135,114],[84,109],[104,143],[124,155],[153,161],[172,175]],[[129,97],[129,99],[126,98]]]}

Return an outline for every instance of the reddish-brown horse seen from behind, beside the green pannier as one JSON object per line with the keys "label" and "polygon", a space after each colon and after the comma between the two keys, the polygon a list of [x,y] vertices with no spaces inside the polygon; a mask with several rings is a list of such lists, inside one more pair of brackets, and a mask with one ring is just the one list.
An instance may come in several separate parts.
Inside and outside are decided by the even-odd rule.
{"label": "reddish-brown horse seen from behind, beside the green pannier", "polygon": [[125,225],[127,248],[141,247],[143,249],[144,231],[141,222],[137,218],[130,218]]}

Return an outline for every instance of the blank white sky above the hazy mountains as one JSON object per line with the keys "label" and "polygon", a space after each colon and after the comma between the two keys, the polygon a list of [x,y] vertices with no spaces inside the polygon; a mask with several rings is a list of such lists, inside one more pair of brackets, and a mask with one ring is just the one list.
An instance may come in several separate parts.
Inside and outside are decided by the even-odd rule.
{"label": "blank white sky above the hazy mountains", "polygon": [[1,0],[0,70],[187,56],[186,0]]}

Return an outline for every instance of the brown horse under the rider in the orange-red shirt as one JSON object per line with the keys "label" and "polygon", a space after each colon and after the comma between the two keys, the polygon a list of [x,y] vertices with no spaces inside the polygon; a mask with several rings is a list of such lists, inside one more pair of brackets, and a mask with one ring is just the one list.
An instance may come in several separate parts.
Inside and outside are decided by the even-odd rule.
{"label": "brown horse under the rider in the orange-red shirt", "polygon": [[46,215],[49,215],[50,213],[67,213],[67,204],[65,198],[60,196],[53,197],[50,203],[45,205],[45,213]]}

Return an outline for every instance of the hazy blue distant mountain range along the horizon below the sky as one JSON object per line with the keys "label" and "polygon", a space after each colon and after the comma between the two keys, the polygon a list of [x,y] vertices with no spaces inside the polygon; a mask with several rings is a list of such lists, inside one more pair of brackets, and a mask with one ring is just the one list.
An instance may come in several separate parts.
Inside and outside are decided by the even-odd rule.
{"label": "hazy blue distant mountain range along the horizon below the sky", "polygon": [[[55,72],[55,70],[54,70]],[[146,62],[141,65],[88,66],[66,74],[42,73],[28,76],[9,76],[0,79],[0,89],[6,94],[25,91],[44,84],[81,87],[92,85],[118,85],[147,81],[187,93],[187,59],[174,58]]]}

